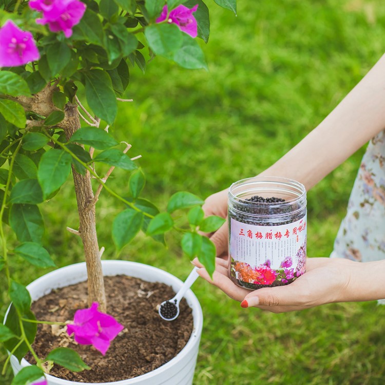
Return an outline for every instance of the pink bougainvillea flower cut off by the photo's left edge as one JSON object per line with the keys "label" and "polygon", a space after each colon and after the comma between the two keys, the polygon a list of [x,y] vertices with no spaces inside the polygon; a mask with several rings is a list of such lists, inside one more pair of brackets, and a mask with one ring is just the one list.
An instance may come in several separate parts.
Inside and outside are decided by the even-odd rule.
{"label": "pink bougainvillea flower cut off by the photo's left edge", "polygon": [[7,20],[0,28],[0,67],[17,67],[40,57],[32,33]]}

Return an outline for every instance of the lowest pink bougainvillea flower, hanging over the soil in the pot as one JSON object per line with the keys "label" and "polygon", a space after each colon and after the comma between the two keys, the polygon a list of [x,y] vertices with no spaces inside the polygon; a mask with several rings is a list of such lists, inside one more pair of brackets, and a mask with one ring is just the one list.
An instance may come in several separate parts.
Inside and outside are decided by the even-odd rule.
{"label": "lowest pink bougainvillea flower, hanging over the soil in the pot", "polygon": [[98,312],[98,302],[93,302],[89,309],[77,310],[73,324],[67,325],[67,333],[82,345],[93,345],[103,355],[111,341],[124,329],[124,326],[112,316]]}

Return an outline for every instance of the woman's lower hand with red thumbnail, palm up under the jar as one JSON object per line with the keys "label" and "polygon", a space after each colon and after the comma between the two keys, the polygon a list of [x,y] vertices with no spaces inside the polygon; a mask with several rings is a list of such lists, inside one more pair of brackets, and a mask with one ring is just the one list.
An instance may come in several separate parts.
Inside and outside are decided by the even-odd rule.
{"label": "woman's lower hand with red thumbnail, palm up under the jar", "polygon": [[354,293],[358,287],[351,285],[351,273],[358,272],[357,265],[362,266],[362,263],[346,259],[307,258],[306,273],[293,283],[264,287],[252,292],[228,278],[227,261],[221,258],[216,259],[213,281],[198,259],[193,263],[200,267],[198,274],[201,277],[219,287],[230,298],[240,301],[242,307],[254,306],[273,313],[282,313],[330,302],[365,300],[356,299]]}

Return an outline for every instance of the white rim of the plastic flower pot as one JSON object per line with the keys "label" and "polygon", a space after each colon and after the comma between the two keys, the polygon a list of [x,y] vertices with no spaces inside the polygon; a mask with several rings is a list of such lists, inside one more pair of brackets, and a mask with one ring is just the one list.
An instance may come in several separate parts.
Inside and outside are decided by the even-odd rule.
{"label": "white rim of the plastic flower pot", "polygon": [[[122,273],[121,271],[117,272],[117,274],[108,274],[108,272],[105,272],[105,270],[108,270],[108,268],[116,267],[119,265],[131,265],[133,268],[138,268],[138,269],[144,268],[147,272],[150,272],[150,273],[153,273],[154,275],[156,275],[157,278],[163,277],[164,280],[166,280],[166,282],[162,281],[162,283],[166,283],[166,284],[171,285],[175,291],[177,291],[179,289],[179,287],[181,287],[183,285],[183,282],[179,278],[177,278],[176,276],[162,270],[161,268],[147,265],[147,264],[140,263],[140,262],[126,261],[126,260],[102,260],[103,276],[113,276],[113,275],[119,275],[119,274],[126,275],[125,273]],[[55,285],[55,287],[51,287],[50,291],[52,291],[55,288],[65,287],[65,286],[71,285],[73,283],[81,282],[81,280],[79,280],[79,278],[82,279],[83,275],[80,274],[79,276],[75,276],[73,278],[73,283],[66,282],[63,285],[60,284],[60,279],[63,277],[63,274],[68,273],[69,271],[71,271],[73,269],[75,269],[76,271],[79,271],[80,273],[82,273],[82,272],[86,273],[86,262],[74,263],[71,265],[67,265],[67,266],[55,269],[52,272],[49,272],[49,273],[37,278],[36,280],[32,281],[30,284],[28,284],[26,286],[27,290],[28,291],[37,290],[37,287],[39,287],[40,284],[43,283],[47,278],[51,278],[51,277],[54,277],[56,275],[57,275],[57,277],[56,277],[57,278],[57,280],[56,280],[57,285]],[[67,272],[66,272],[66,270],[67,270]],[[134,274],[128,275],[128,276],[135,277]],[[85,277],[86,277],[86,275],[85,275]],[[146,280],[146,277],[136,277],[136,278],[142,278],[143,280]],[[159,279],[149,281],[149,282],[155,282],[155,281],[161,282]],[[45,294],[43,294],[43,295],[45,295]],[[40,297],[34,297],[32,294],[31,294],[31,297],[32,297],[32,301],[34,299],[40,298]],[[135,383],[137,383],[139,381],[143,381],[145,379],[151,379],[152,377],[157,376],[159,374],[159,372],[163,372],[171,366],[178,365],[178,363],[191,350],[194,349],[196,343],[199,343],[200,336],[202,333],[202,328],[203,328],[203,313],[202,313],[202,308],[201,308],[201,305],[198,301],[198,298],[192,292],[191,289],[189,289],[186,292],[186,294],[184,295],[184,298],[186,299],[188,305],[192,309],[194,328],[192,330],[190,338],[188,339],[188,341],[187,341],[186,345],[183,347],[183,349],[174,358],[167,361],[166,363],[164,363],[159,368],[157,368],[151,372],[137,376],[137,377],[123,379],[123,380],[119,380],[119,381],[112,381],[112,382],[88,382],[88,383],[87,382],[77,382],[77,381],[70,381],[70,380],[66,380],[63,378],[55,377],[55,376],[52,376],[50,374],[46,374],[46,378],[47,379],[52,378],[52,379],[54,379],[54,381],[56,381],[56,383],[61,384],[61,385],[131,385],[131,384],[134,385]],[[9,307],[8,307],[7,312],[5,314],[4,322],[7,318],[8,312],[9,312]],[[9,354],[9,352],[8,352],[8,354]],[[17,360],[17,358],[14,356],[12,356],[11,359]],[[19,363],[18,360],[17,360],[17,363]],[[21,367],[24,368],[24,367],[27,367],[28,365],[30,365],[30,363],[26,359],[22,358],[20,365],[21,365]]]}

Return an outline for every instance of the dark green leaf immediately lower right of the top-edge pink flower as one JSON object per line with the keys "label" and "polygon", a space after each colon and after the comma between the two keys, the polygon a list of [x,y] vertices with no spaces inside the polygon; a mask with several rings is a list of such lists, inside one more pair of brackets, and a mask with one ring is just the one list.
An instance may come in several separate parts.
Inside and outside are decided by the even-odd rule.
{"label": "dark green leaf immediately lower right of the top-edge pink flower", "polygon": [[74,26],[71,38],[72,40],[85,40],[103,47],[105,35],[98,14],[87,8],[80,23]]}

